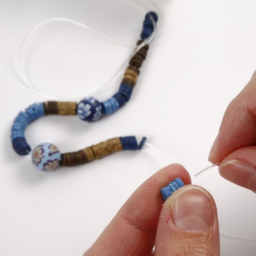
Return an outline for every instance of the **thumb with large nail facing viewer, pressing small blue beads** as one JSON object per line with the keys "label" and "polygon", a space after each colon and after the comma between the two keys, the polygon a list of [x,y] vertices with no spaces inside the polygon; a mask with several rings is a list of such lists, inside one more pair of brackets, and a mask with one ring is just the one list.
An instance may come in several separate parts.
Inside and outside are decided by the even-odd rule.
{"label": "thumb with large nail facing viewer, pressing small blue beads", "polygon": [[176,190],[158,220],[155,255],[220,255],[217,209],[203,188]]}

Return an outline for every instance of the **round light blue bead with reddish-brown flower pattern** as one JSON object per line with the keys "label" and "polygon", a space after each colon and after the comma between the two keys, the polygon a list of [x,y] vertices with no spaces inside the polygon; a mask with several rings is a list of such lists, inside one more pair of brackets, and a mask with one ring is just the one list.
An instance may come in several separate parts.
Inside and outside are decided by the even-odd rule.
{"label": "round light blue bead with reddish-brown flower pattern", "polygon": [[32,152],[32,161],[37,169],[53,171],[59,166],[61,154],[59,149],[51,143],[42,143]]}

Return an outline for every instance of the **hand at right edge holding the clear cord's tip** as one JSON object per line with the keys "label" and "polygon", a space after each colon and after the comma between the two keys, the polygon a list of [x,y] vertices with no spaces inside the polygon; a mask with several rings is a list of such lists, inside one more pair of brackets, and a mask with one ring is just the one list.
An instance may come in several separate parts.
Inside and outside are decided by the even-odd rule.
{"label": "hand at right edge holding the clear cord's tip", "polygon": [[256,192],[256,71],[228,105],[211,151],[223,178]]}

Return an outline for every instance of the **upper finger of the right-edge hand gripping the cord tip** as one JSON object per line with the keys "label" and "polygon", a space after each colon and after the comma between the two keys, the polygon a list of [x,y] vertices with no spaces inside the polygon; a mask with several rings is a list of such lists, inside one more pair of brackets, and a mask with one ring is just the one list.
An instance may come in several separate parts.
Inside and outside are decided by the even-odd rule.
{"label": "upper finger of the right-edge hand gripping the cord tip", "polygon": [[256,144],[256,71],[250,82],[228,105],[209,161],[219,163],[236,149]]}

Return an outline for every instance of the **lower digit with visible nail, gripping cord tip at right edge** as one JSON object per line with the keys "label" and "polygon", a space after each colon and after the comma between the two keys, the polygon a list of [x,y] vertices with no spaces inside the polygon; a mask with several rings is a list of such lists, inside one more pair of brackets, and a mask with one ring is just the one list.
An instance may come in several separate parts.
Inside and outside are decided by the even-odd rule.
{"label": "lower digit with visible nail, gripping cord tip at right edge", "polygon": [[219,174],[226,180],[256,192],[256,171],[245,162],[236,159],[224,162],[219,165]]}

